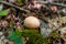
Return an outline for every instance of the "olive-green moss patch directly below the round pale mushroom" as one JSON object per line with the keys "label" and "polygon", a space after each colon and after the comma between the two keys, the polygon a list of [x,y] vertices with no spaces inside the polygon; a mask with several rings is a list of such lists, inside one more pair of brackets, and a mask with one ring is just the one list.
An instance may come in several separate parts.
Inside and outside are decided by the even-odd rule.
{"label": "olive-green moss patch directly below the round pale mushroom", "polygon": [[35,30],[24,30],[22,36],[30,38],[29,44],[47,44],[47,40]]}

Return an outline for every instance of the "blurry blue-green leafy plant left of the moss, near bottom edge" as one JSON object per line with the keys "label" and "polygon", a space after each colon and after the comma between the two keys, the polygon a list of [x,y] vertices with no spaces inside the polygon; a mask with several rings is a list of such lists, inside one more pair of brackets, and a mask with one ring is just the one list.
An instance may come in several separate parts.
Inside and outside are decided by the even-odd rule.
{"label": "blurry blue-green leafy plant left of the moss, near bottom edge", "polygon": [[23,44],[23,42],[20,37],[20,34],[16,34],[16,33],[15,33],[15,31],[11,30],[9,33],[9,40],[13,41],[14,44]]}

